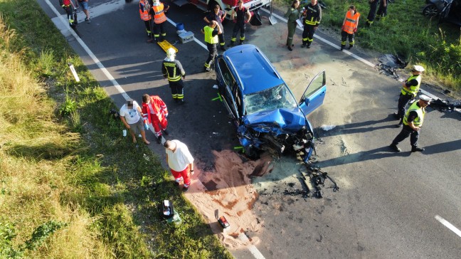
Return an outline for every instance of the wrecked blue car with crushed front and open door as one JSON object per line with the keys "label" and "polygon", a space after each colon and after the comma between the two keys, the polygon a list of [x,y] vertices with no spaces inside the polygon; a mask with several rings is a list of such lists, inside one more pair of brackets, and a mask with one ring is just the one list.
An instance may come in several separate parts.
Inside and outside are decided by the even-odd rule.
{"label": "wrecked blue car with crushed front and open door", "polygon": [[322,105],[325,71],[309,83],[300,102],[263,52],[245,44],[216,58],[216,81],[223,104],[237,127],[245,153],[302,152],[307,162],[314,150],[314,131],[306,115]]}

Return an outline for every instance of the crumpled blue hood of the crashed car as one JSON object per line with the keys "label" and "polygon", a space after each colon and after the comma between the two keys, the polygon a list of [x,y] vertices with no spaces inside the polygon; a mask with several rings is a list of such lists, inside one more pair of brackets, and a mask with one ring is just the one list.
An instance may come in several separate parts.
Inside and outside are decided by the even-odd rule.
{"label": "crumpled blue hood of the crashed car", "polygon": [[275,135],[295,133],[306,126],[306,118],[299,107],[255,112],[243,117],[245,127]]}

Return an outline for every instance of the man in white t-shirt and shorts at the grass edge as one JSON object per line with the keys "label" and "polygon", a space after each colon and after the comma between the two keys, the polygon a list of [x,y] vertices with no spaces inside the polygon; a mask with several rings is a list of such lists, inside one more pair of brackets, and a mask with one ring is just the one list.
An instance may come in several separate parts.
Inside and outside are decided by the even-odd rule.
{"label": "man in white t-shirt and shorts at the grass edge", "polygon": [[129,133],[133,138],[133,143],[137,142],[136,134],[141,134],[144,143],[150,144],[146,139],[146,132],[144,132],[144,125],[142,125],[141,114],[141,107],[139,107],[136,101],[131,99],[127,100],[127,103],[120,108],[120,120],[122,120],[125,127],[129,129]]}

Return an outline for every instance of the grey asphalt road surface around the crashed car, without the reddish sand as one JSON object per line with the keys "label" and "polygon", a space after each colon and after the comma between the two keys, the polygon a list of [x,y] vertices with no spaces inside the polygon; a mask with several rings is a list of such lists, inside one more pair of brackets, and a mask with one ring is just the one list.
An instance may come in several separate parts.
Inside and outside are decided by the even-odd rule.
{"label": "grey asphalt road surface around the crashed car, without the reddish sand", "polygon": [[[70,35],[48,6],[49,1],[38,2],[118,107],[125,96],[117,84],[138,101],[144,93],[163,97],[170,110],[172,137],[189,145],[202,169],[213,169],[211,151],[238,145],[226,110],[213,100],[217,96],[212,88],[214,73],[201,73],[205,48],[196,42],[175,45],[187,73],[186,104],[175,105],[160,72],[164,52],[146,43],[137,2],[90,0],[92,22],[80,23],[78,31],[94,58]],[[58,1],[52,4],[63,14]],[[83,20],[81,11],[79,15]],[[176,23],[184,23],[186,30],[203,42],[201,10],[191,5],[179,9],[172,4],[167,15]],[[295,48],[290,53],[283,48],[285,23],[279,20],[270,26],[267,19],[263,22],[261,28],[250,28],[249,43],[265,52],[297,95],[307,85],[299,82],[299,75],[327,71],[327,98],[309,120],[317,129],[319,142],[324,143],[317,146],[316,164],[328,171],[341,189],[336,193],[325,189],[324,199],[284,195],[285,189],[296,189],[300,181],[298,171],[287,171],[296,168],[295,159],[280,159],[272,173],[254,179],[257,187],[272,186],[270,192],[260,189],[253,207],[264,225],[262,231],[246,232],[249,238],[260,240],[255,244],[258,253],[230,250],[235,258],[460,258],[460,113],[429,109],[420,136],[425,152],[411,154],[408,139],[400,145],[403,152],[390,152],[387,146],[399,129],[389,115],[395,110],[401,83],[339,52],[334,48],[339,38],[332,39],[322,31],[318,36],[334,46],[317,38],[309,51]],[[174,43],[176,28],[166,28],[167,39]],[[232,25],[226,24],[226,41],[231,30]],[[376,63],[375,57],[353,52]],[[336,127],[324,131],[321,125]],[[152,151],[162,156],[164,149],[154,142],[153,134],[148,138]],[[450,224],[454,228],[450,229]]]}

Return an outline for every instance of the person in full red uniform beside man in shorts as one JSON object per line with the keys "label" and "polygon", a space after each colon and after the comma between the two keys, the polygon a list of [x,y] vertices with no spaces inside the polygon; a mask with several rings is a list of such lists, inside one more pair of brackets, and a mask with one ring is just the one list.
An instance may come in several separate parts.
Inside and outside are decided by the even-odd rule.
{"label": "person in full red uniform beside man in shorts", "polygon": [[161,131],[168,135],[166,126],[168,126],[168,109],[166,104],[157,95],[142,95],[142,119],[144,124],[154,127],[154,134],[157,143],[161,143]]}

